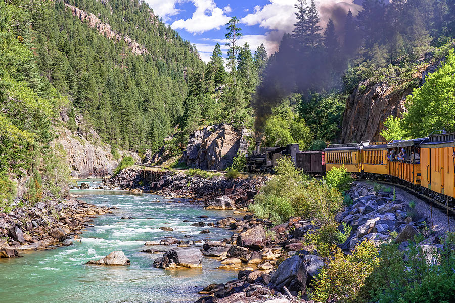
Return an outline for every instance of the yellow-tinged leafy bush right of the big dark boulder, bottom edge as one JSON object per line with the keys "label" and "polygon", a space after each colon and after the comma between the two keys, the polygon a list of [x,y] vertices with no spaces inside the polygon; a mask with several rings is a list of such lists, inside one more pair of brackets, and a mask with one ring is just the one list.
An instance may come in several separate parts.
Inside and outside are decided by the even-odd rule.
{"label": "yellow-tinged leafy bush right of the big dark boulder, bottom edge", "polygon": [[[363,241],[345,255],[335,251],[329,263],[316,276],[310,296],[317,302],[359,302],[359,291],[367,277],[378,268],[378,249],[373,242]],[[386,268],[384,268],[386,270]]]}

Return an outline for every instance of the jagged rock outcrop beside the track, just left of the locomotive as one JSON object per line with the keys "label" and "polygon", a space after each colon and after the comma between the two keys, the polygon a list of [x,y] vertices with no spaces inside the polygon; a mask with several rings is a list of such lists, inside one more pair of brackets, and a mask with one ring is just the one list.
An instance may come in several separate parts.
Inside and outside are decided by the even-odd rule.
{"label": "jagged rock outcrop beside the track, just left of the locomotive", "polygon": [[224,170],[238,151],[246,153],[248,135],[248,130],[237,131],[228,124],[207,126],[191,135],[180,162],[190,168]]}

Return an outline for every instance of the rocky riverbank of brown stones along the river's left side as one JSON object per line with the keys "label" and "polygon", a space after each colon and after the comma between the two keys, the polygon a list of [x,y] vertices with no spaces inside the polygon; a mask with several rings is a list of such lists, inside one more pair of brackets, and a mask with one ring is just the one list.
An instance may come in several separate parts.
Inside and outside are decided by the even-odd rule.
{"label": "rocky riverbank of brown stones along the river's left side", "polygon": [[97,207],[76,199],[38,202],[25,206],[18,201],[8,214],[0,214],[0,257],[20,257],[25,250],[68,246],[90,226],[92,218],[112,213],[109,207]]}

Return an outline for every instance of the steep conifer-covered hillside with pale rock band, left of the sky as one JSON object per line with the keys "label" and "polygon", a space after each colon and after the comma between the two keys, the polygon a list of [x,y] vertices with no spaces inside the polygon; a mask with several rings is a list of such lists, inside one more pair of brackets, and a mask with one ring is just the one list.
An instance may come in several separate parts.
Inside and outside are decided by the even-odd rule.
{"label": "steep conifer-covered hillside with pale rock band, left of the sky", "polygon": [[121,148],[160,145],[184,114],[187,73],[204,68],[145,2],[45,2],[26,21],[31,31],[18,34],[30,36],[40,74]]}

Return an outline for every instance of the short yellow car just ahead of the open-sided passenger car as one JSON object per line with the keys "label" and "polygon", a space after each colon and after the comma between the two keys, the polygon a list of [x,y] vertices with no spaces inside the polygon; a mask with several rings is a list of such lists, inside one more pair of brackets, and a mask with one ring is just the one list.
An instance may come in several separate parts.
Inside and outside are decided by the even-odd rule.
{"label": "short yellow car just ahead of the open-sided passenger car", "polygon": [[362,149],[363,172],[387,175],[387,142],[370,142]]}

